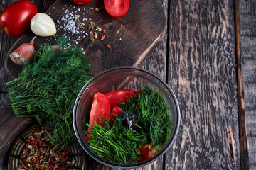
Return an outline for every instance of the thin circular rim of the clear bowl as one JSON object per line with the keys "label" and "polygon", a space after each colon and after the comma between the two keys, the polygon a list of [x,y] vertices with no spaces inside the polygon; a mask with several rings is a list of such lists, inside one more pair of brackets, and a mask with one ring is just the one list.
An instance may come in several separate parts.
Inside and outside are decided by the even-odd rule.
{"label": "thin circular rim of the clear bowl", "polygon": [[[92,152],[90,149],[87,149],[85,147],[85,145],[83,145],[81,137],[80,137],[79,132],[78,132],[79,130],[78,130],[78,126],[77,126],[78,123],[76,121],[76,110],[77,110],[77,107],[78,107],[78,101],[80,100],[80,97],[84,93],[85,89],[87,89],[87,86],[89,86],[92,83],[92,81],[94,81],[98,77],[102,76],[102,74],[105,74],[107,72],[112,72],[112,71],[117,70],[117,69],[136,69],[136,70],[141,71],[141,72],[146,72],[146,74],[150,74],[151,76],[153,76],[157,80],[161,81],[161,83],[164,84],[164,86],[166,86],[166,88],[171,92],[171,96],[172,96],[172,98],[174,99],[174,102],[175,102],[175,107],[176,107],[176,111],[177,111],[177,113],[176,113],[176,126],[174,127],[175,128],[174,129],[174,134],[171,136],[171,140],[169,141],[169,145],[166,147],[166,149],[164,149],[164,152],[162,152],[161,154],[159,154],[156,157],[152,157],[150,159],[147,159],[143,163],[139,162],[137,164],[115,164],[115,163],[112,163],[112,162],[107,161],[107,160],[105,161],[100,156],[98,156],[97,154]],[[160,77],[156,76],[156,74],[154,74],[152,72],[149,72],[146,69],[142,69],[142,68],[139,68],[139,67],[133,67],[133,66],[112,67],[110,69],[105,69],[102,72],[96,74],[89,81],[87,81],[85,86],[82,87],[82,89],[80,90],[80,93],[78,94],[78,97],[75,100],[75,104],[74,104],[74,108],[73,108],[73,128],[74,128],[74,131],[75,131],[75,136],[78,139],[78,142],[80,143],[82,149],[84,149],[85,152],[87,154],[89,154],[90,157],[95,159],[97,162],[100,162],[101,164],[104,164],[105,166],[109,166],[109,167],[112,167],[112,168],[115,168],[115,169],[124,169],[124,168],[134,169],[134,168],[138,168],[138,167],[141,167],[141,166],[145,166],[146,164],[150,164],[151,162],[154,162],[156,159],[159,159],[159,157],[161,157],[163,154],[165,154],[166,151],[173,145],[174,140],[176,139],[176,136],[178,134],[180,121],[181,121],[181,113],[180,113],[180,108],[179,108],[179,105],[178,105],[178,100],[177,100],[177,98],[174,94],[174,91],[171,89],[171,87],[168,84],[166,84],[166,82],[164,80],[162,80]],[[102,160],[104,160],[104,161],[102,161]]]}

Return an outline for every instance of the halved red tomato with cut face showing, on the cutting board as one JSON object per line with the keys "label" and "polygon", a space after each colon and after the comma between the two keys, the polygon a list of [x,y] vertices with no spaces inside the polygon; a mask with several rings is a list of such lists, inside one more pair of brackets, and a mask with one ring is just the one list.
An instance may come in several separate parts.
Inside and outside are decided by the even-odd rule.
{"label": "halved red tomato with cut face showing, on the cutting board", "polygon": [[127,14],[129,10],[129,0],[104,0],[107,13],[114,18],[119,18]]}

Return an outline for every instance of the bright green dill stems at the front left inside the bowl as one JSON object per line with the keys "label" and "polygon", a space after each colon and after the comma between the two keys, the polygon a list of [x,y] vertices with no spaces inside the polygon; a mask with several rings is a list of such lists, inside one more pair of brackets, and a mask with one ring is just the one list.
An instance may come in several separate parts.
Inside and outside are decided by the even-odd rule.
{"label": "bright green dill stems at the front left inside the bowl", "polygon": [[94,128],[88,123],[87,126],[92,128],[89,132],[92,139],[88,143],[100,157],[116,164],[137,163],[141,154],[139,147],[146,141],[146,134],[127,130],[119,119],[115,119],[112,126],[108,120],[105,120],[103,127],[96,123]]}

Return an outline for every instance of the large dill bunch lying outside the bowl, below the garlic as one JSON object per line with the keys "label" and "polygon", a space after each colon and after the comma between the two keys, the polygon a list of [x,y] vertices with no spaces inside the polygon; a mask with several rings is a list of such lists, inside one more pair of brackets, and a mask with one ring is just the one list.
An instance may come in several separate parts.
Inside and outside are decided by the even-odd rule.
{"label": "large dill bunch lying outside the bowl, below the garlic", "polygon": [[39,124],[53,130],[55,147],[64,149],[75,141],[72,114],[80,89],[92,78],[90,65],[79,47],[67,47],[68,40],[59,38],[58,52],[49,43],[40,45],[33,62],[26,63],[18,78],[7,82],[14,114],[34,117]]}

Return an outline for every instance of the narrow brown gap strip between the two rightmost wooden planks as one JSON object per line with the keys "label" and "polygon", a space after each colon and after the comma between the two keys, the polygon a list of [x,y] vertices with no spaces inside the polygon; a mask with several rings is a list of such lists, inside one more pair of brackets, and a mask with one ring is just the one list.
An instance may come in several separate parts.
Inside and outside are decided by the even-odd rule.
{"label": "narrow brown gap strip between the two rightmost wooden planks", "polygon": [[240,47],[240,33],[239,33],[239,0],[235,0],[235,55],[236,55],[236,73],[238,79],[238,125],[239,125],[239,143],[240,143],[240,169],[249,169],[249,154],[246,134],[245,122],[245,98],[242,87],[242,68],[241,68],[241,47]]}

